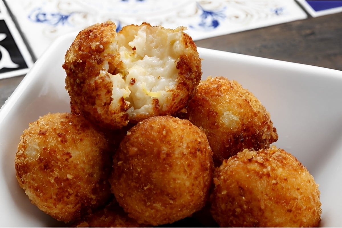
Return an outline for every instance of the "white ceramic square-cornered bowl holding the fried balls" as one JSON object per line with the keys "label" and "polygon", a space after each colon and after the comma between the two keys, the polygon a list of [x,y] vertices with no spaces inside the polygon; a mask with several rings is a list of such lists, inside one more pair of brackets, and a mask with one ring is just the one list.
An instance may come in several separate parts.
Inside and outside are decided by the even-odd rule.
{"label": "white ceramic square-cornered bowl holding the fried balls", "polygon": [[[62,69],[76,34],[57,39],[0,110],[0,226],[63,226],[32,205],[15,178],[14,157],[24,129],[48,112],[67,112]],[[298,63],[198,48],[203,78],[237,80],[271,113],[279,140],[319,184],[321,226],[342,226],[342,72]]]}

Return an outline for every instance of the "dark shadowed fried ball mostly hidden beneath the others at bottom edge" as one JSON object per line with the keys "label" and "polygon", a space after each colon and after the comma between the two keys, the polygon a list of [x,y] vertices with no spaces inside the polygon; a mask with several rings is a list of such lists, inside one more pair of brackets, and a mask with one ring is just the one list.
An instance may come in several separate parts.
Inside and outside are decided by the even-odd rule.
{"label": "dark shadowed fried ball mostly hidden beneath the others at bottom edge", "polygon": [[74,227],[146,227],[137,223],[114,200],[105,208],[83,217],[73,224]]}

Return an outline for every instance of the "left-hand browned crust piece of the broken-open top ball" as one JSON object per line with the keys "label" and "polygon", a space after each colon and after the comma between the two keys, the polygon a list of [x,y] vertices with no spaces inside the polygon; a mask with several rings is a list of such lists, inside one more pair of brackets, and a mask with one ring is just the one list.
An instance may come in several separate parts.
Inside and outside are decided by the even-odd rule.
{"label": "left-hand browned crust piece of the broken-open top ball", "polygon": [[104,127],[120,128],[128,123],[126,104],[121,101],[117,110],[110,109],[113,83],[108,74],[100,75],[104,62],[109,63],[109,73],[123,69],[119,56],[106,52],[116,37],[115,29],[114,23],[105,22],[80,31],[66,52],[63,68],[71,103],[82,115]]}

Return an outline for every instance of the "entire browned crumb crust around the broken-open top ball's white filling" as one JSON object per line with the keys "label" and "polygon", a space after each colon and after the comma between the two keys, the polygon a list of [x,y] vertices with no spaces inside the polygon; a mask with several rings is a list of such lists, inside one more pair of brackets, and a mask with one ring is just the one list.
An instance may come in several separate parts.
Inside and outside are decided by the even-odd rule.
{"label": "entire browned crumb crust around the broken-open top ball's white filling", "polygon": [[[146,33],[158,34],[180,32],[180,49],[177,51],[176,69],[178,77],[176,86],[168,91],[172,96],[166,99],[166,105],[161,105],[158,98],[152,98],[152,108],[148,112],[137,112],[128,114],[130,104],[128,98],[121,97],[113,101],[113,82],[111,77],[120,73],[122,77],[128,75],[127,66],[122,62],[120,56],[120,45],[127,45],[134,39],[140,29],[146,27]],[[137,123],[145,118],[157,115],[171,115],[183,109],[193,96],[196,86],[201,79],[201,60],[192,38],[183,32],[183,28],[177,30],[165,29],[161,26],[151,26],[143,23],[140,26],[129,25],[116,33],[113,22],[95,24],[79,32],[73,44],[71,44],[65,55],[63,68],[66,71],[66,89],[68,90],[73,110],[79,110],[96,124],[112,129],[126,126],[128,122]],[[124,36],[127,44],[118,42],[117,37]],[[155,38],[156,40],[159,37]],[[156,42],[157,43],[157,42]],[[170,49],[172,44],[160,42]],[[166,42],[167,43],[167,42]],[[158,49],[159,46],[153,47]],[[165,48],[165,47],[163,47]],[[136,47],[132,49],[131,57],[135,58]],[[166,53],[166,52],[165,52]],[[106,69],[108,63],[108,69]],[[134,81],[135,79],[133,79]],[[134,84],[134,83],[133,83]],[[132,101],[131,101],[132,102]],[[76,108],[75,108],[76,107]]]}

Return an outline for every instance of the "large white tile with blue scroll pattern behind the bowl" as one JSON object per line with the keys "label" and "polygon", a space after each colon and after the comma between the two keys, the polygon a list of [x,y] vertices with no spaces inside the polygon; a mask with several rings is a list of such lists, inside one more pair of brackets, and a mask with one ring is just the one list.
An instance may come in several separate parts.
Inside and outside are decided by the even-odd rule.
{"label": "large white tile with blue scroll pattern behind the bowl", "polygon": [[142,22],[184,26],[200,40],[307,17],[294,1],[281,0],[12,0],[8,5],[36,57],[58,36],[108,19],[118,30]]}

